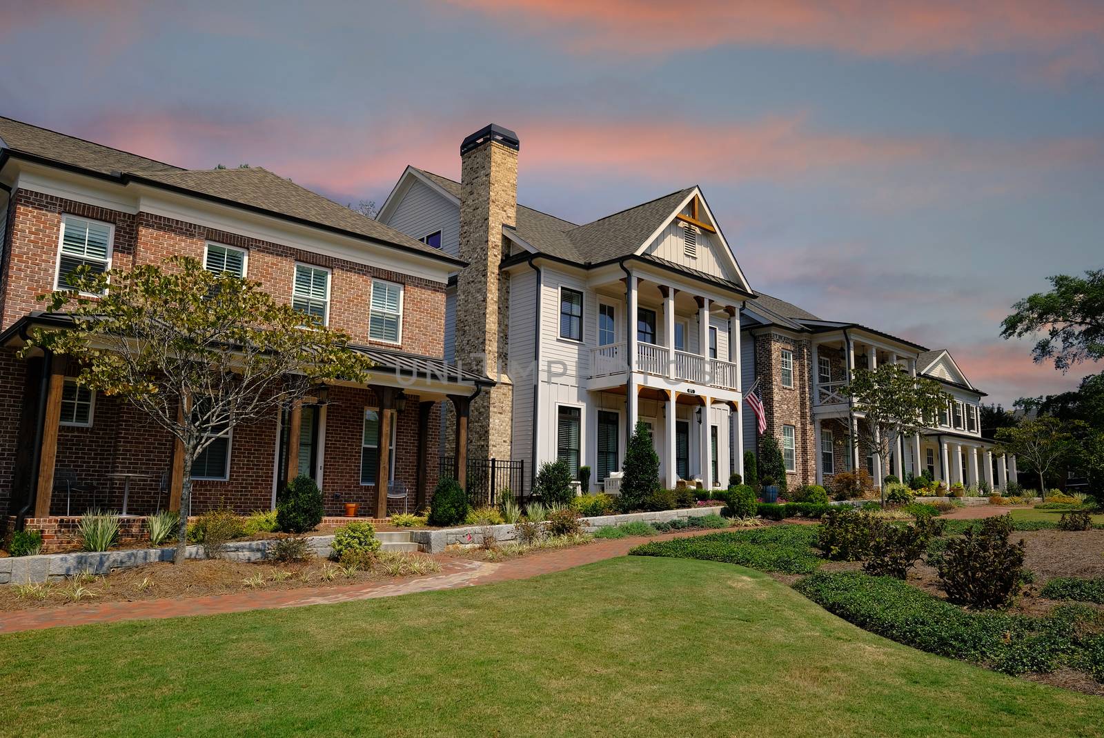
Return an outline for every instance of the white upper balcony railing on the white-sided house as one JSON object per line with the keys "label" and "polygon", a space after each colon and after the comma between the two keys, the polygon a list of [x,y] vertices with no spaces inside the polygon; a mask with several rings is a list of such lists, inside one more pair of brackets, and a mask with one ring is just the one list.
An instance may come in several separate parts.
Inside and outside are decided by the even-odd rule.
{"label": "white upper balcony railing on the white-sided house", "polygon": [[[591,350],[592,377],[624,374],[627,371],[627,346],[624,342]],[[736,364],[720,359],[705,359],[686,351],[675,351],[672,361],[671,352],[666,346],[652,343],[637,343],[636,371],[722,389],[735,391],[740,387]]]}

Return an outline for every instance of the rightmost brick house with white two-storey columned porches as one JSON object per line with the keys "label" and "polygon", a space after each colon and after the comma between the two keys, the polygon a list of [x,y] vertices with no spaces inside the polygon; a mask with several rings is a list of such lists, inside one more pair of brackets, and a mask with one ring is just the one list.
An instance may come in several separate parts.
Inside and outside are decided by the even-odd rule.
{"label": "rightmost brick house with white two-storey columned porches", "polygon": [[[925,470],[948,484],[1004,489],[1016,479],[1016,458],[994,452],[983,438],[985,393],[970,384],[946,351],[859,325],[824,320],[793,303],[760,292],[741,315],[744,384],[758,379],[766,434],[774,436],[787,469],[787,483],[822,484],[832,474],[866,468],[875,480],[905,479]],[[869,437],[861,406],[840,393],[856,367],[898,364],[913,376],[936,379],[952,399],[940,417],[913,438],[900,439],[889,459],[868,453],[856,441]],[[749,414],[743,446],[755,449],[757,434]]]}

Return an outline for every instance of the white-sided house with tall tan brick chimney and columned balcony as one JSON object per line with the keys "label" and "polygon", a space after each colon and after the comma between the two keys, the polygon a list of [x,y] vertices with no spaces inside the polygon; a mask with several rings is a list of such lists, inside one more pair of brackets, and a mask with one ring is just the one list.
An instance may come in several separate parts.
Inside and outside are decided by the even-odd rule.
{"label": "white-sided house with tall tan brick chimney and columned balcony", "polygon": [[471,454],[520,461],[527,488],[563,459],[612,489],[640,420],[666,484],[725,485],[754,293],[703,193],[576,224],[518,202],[519,162],[518,136],[488,126],[461,142],[459,182],[407,167],[378,216],[469,265],[445,295],[445,357],[498,381],[473,403]]}

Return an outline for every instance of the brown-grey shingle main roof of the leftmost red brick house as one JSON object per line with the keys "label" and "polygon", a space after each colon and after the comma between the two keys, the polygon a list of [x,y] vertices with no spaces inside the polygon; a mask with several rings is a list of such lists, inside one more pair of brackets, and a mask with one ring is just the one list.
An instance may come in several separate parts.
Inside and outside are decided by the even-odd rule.
{"label": "brown-grey shingle main roof of the leftmost red brick house", "polygon": [[426,246],[379,221],[343,207],[259,167],[185,170],[10,118],[0,118],[0,140],[3,141],[3,148],[12,152],[102,174],[119,173],[130,180],[170,185],[266,211],[277,217],[306,221],[328,229],[342,231],[459,264],[439,249]]}

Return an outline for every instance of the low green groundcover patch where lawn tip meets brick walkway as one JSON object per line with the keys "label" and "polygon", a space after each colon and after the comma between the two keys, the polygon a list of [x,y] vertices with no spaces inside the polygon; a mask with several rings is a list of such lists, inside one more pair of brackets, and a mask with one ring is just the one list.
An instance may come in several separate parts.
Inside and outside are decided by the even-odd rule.
{"label": "low green groundcover patch where lawn tip meets brick walkway", "polygon": [[654,541],[629,550],[630,556],[669,556],[739,564],[761,571],[810,574],[820,566],[813,550],[810,525],[772,525],[753,531],[710,533],[692,538]]}

